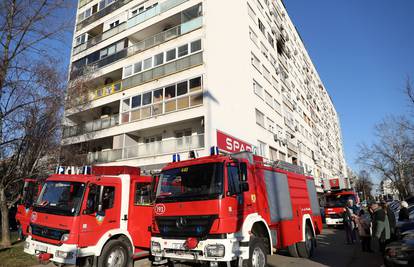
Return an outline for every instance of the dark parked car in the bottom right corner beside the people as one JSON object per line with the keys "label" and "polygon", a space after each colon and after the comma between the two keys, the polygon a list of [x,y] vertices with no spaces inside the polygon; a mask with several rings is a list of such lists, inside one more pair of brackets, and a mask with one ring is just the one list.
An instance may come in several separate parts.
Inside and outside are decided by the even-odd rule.
{"label": "dark parked car in the bottom right corner beside the people", "polygon": [[401,234],[401,240],[385,248],[384,263],[387,267],[414,266],[414,230]]}

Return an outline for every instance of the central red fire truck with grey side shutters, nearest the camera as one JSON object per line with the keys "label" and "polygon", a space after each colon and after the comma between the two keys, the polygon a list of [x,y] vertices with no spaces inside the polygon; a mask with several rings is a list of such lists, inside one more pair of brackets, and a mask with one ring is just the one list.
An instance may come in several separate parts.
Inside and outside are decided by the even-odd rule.
{"label": "central red fire truck with grey side shutters, nearest the camera", "polygon": [[248,152],[217,154],[162,170],[152,226],[154,264],[266,266],[266,255],[278,248],[310,257],[322,230],[313,178],[299,166],[268,165]]}

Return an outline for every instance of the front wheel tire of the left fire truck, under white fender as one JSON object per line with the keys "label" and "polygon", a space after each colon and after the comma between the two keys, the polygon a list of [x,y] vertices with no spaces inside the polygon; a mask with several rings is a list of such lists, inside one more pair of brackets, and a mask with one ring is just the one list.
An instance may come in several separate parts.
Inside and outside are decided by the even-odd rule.
{"label": "front wheel tire of the left fire truck, under white fender", "polygon": [[129,267],[132,264],[131,251],[128,244],[121,240],[110,240],[98,257],[99,267]]}

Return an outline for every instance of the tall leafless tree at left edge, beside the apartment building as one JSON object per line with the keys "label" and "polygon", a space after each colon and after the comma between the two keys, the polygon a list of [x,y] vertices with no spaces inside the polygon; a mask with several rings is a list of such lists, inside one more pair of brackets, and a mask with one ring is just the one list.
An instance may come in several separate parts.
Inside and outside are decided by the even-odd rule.
{"label": "tall leafless tree at left edge, beside the apartment building", "polygon": [[[58,136],[65,79],[59,55],[67,35],[65,0],[0,2],[0,210],[10,246],[8,207],[26,175],[36,175]],[[63,47],[64,48],[64,47]]]}

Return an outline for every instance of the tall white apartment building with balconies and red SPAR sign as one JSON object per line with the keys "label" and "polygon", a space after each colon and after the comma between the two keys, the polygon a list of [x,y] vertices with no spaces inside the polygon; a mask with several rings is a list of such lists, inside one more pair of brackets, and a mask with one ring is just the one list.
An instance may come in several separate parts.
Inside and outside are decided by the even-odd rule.
{"label": "tall white apartment building with balconies and red SPAR sign", "polygon": [[62,142],[89,163],[157,170],[218,145],[318,184],[346,175],[338,115],[281,0],[81,0],[70,80]]}

